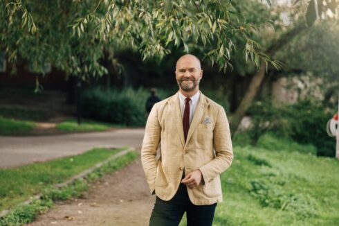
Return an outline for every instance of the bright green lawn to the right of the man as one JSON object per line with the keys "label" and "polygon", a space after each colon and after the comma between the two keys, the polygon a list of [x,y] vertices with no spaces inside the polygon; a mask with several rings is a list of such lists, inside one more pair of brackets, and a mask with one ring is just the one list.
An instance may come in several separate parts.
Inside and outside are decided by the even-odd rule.
{"label": "bright green lawn to the right of the man", "polygon": [[266,148],[235,145],[213,225],[339,225],[339,161],[273,140],[259,141]]}

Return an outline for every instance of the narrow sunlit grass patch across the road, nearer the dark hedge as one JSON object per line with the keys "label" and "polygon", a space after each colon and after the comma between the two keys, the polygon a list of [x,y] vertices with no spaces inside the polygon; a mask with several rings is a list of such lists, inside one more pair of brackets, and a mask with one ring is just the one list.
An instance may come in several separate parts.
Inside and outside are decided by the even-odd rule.
{"label": "narrow sunlit grass patch across the road, nearer the dark hedge", "polygon": [[[110,123],[99,123],[96,121],[83,121],[80,125],[75,120],[68,120],[62,123],[57,123],[56,128],[65,132],[89,132],[89,131],[104,131],[108,130],[112,126]],[[122,127],[121,125],[118,127]]]}

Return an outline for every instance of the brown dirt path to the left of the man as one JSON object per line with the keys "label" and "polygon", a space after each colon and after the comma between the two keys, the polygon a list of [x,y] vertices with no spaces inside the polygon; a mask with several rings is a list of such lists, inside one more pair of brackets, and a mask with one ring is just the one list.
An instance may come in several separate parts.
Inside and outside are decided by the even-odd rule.
{"label": "brown dirt path to the left of the man", "polygon": [[140,159],[106,175],[84,198],[56,204],[30,226],[148,225],[154,205]]}

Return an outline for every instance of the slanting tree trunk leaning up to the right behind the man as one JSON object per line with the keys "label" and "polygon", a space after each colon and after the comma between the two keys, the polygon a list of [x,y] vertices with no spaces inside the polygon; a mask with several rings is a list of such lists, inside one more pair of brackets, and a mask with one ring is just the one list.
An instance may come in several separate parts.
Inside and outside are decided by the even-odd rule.
{"label": "slanting tree trunk leaning up to the right behind the man", "polygon": [[[290,31],[284,33],[280,38],[273,42],[271,46],[268,47],[266,54],[269,56],[275,55],[277,51],[282,49],[290,40],[293,39],[296,35],[300,35],[302,32],[306,31],[306,24],[301,23],[296,25],[294,28],[292,28]],[[241,119],[246,114],[246,111],[248,110],[248,107],[250,107],[253,99],[257,95],[257,91],[262,85],[262,80],[264,80],[266,72],[266,64],[262,62],[260,65],[259,71],[255,73],[252,80],[250,81],[250,85],[248,87],[247,92],[245,93],[244,98],[242,98],[240,105],[237,107],[237,110],[235,111],[235,114],[233,114],[232,118],[230,119],[230,130],[232,132],[232,136],[237,132],[237,128],[239,127],[239,124],[241,122]]]}

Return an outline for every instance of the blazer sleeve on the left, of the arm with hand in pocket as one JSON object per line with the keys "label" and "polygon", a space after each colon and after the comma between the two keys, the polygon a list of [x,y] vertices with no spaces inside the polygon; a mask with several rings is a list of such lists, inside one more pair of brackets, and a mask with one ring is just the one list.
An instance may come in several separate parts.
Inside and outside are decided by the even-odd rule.
{"label": "blazer sleeve on the left, of the arm with hand in pocket", "polygon": [[158,120],[158,104],[155,104],[147,119],[143,147],[141,148],[141,162],[151,194],[155,189],[156,148],[158,147],[160,135],[161,126]]}

